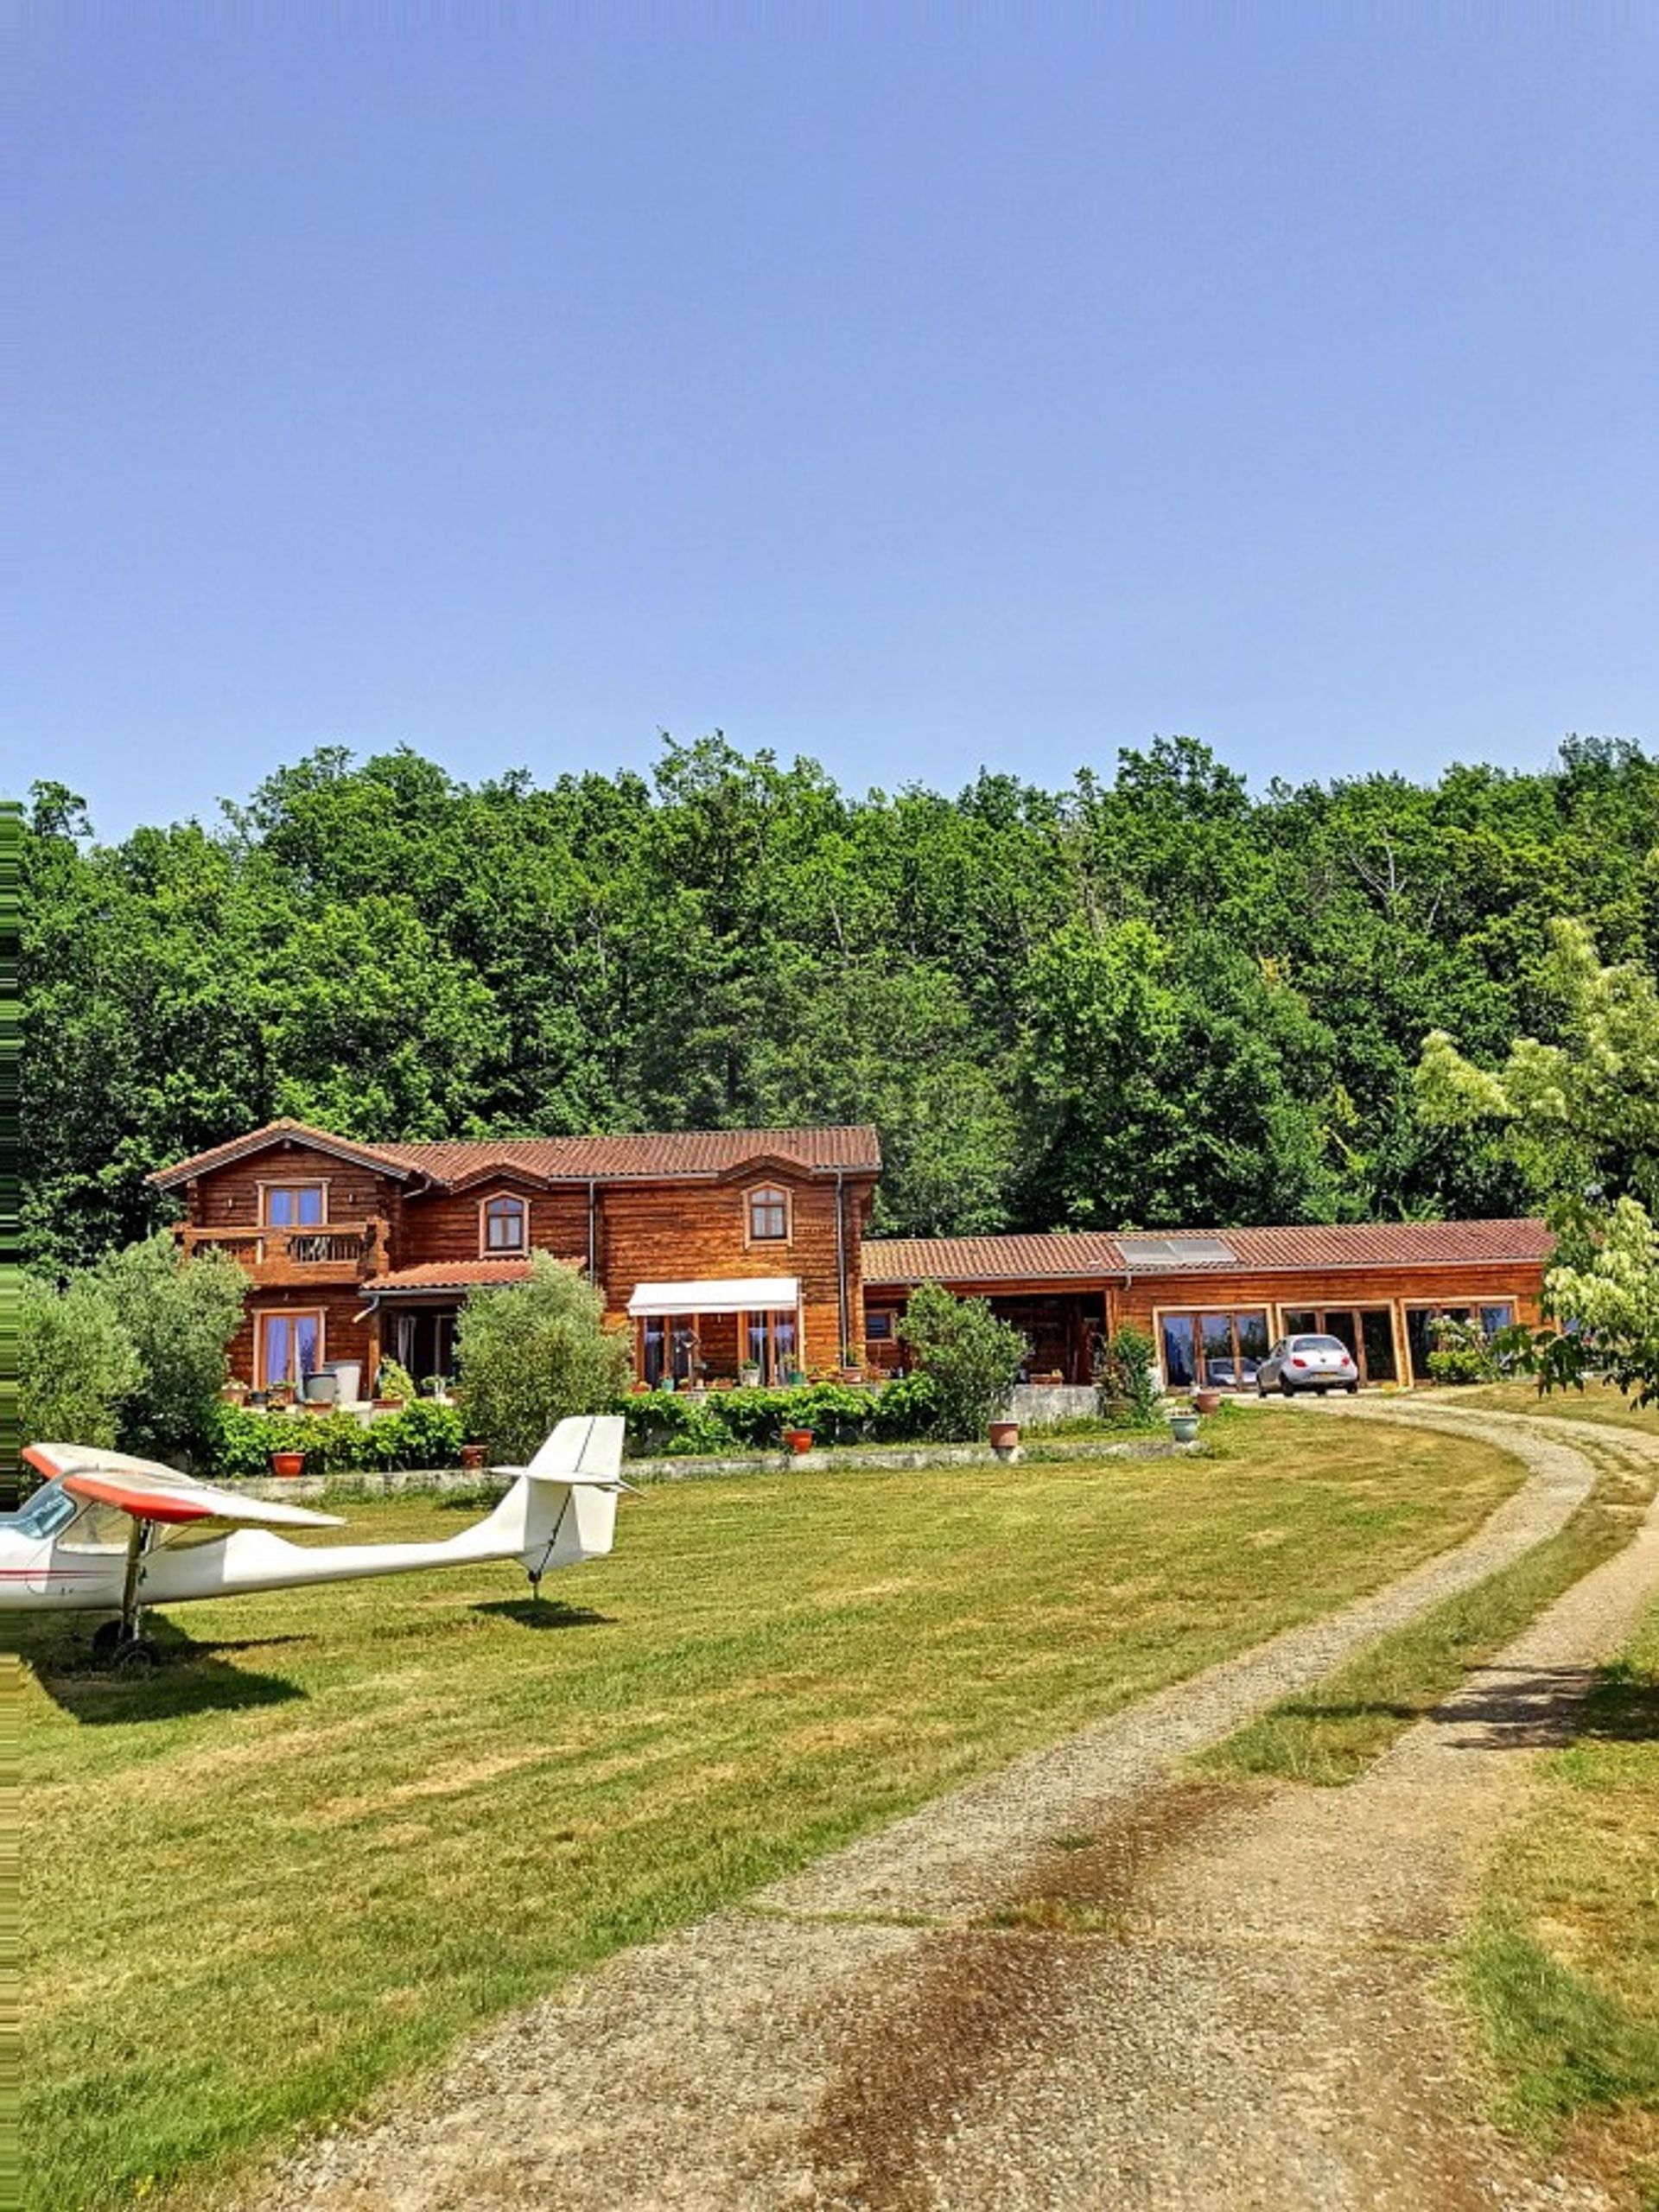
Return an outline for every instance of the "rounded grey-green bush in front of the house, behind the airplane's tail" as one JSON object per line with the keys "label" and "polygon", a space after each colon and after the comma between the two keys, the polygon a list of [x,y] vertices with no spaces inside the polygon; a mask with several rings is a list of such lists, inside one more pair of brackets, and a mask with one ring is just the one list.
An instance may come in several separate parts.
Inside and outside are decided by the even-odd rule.
{"label": "rounded grey-green bush in front of the house, behind the airplane's tail", "polygon": [[531,1254],[526,1283],[467,1294],[456,1358],[473,1429],[515,1462],[568,1413],[608,1407],[628,1376],[628,1340],[606,1329],[604,1298],[546,1252]]}

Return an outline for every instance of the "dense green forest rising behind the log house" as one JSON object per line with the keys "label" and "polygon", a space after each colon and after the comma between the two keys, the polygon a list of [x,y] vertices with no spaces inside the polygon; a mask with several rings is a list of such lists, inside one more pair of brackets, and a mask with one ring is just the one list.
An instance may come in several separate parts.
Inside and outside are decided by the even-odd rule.
{"label": "dense green forest rising behind the log house", "polygon": [[878,1228],[1513,1212],[1422,1037],[1548,1033],[1551,916],[1659,962],[1659,759],[1272,783],[1190,739],[1064,792],[849,796],[712,737],[456,783],[323,750],[217,825],[24,841],[24,1221],[69,1265],[144,1175],[274,1115],[361,1137],[874,1119]]}

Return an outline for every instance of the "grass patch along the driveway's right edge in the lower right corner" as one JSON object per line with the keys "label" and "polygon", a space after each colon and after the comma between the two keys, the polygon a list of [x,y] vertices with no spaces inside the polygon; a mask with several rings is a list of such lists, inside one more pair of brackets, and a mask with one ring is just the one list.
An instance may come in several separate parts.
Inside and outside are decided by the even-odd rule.
{"label": "grass patch along the driveway's right edge in the lower right corner", "polygon": [[1464,1971],[1502,2117],[1659,2203],[1659,1606],[1546,1761]]}

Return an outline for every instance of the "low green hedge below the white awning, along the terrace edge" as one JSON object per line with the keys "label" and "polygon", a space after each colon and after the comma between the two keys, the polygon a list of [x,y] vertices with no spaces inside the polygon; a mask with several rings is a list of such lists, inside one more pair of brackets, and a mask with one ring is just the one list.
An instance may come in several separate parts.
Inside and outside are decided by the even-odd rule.
{"label": "low green hedge below the white awning, along the terrace edge", "polygon": [[907,1444],[938,1429],[931,1376],[865,1389],[807,1383],[803,1389],[635,1391],[622,1400],[633,1458],[776,1451],[785,1429],[812,1429],[818,1444]]}

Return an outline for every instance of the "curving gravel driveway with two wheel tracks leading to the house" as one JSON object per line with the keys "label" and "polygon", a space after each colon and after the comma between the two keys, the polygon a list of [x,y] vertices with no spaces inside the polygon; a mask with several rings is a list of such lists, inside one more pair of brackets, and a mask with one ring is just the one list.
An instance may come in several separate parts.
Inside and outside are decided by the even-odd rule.
{"label": "curving gravel driveway with two wheel tracks leading to the house", "polygon": [[1659,1442],[1440,1405],[1276,1418],[1427,1422],[1531,1473],[1387,1590],[566,1984],[246,2212],[1610,2205],[1480,2124],[1436,1978],[1515,1750],[1559,1736],[1659,1586],[1659,1511],[1347,1790],[1175,1763]]}

